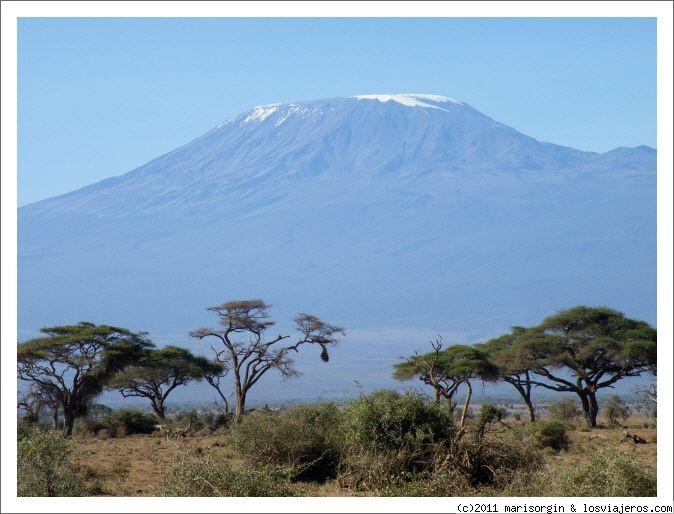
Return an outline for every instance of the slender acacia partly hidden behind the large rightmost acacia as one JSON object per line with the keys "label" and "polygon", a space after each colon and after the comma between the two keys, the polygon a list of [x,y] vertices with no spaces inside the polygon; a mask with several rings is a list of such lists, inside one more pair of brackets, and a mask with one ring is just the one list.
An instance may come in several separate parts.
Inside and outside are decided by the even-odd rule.
{"label": "slender acacia partly hidden behind the large rightmost acacia", "polygon": [[531,381],[531,370],[526,360],[520,358],[515,345],[517,338],[525,331],[523,327],[513,327],[510,334],[491,339],[476,347],[484,351],[490,362],[498,368],[499,378],[517,390],[529,411],[529,421],[534,422],[536,410],[531,401],[531,390],[534,386]]}

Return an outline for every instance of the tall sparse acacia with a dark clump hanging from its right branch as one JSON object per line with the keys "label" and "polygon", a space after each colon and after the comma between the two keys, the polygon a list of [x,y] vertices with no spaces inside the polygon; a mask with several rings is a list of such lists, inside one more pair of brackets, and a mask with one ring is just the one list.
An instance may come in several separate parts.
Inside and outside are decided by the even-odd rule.
{"label": "tall sparse acacia with a dark clump hanging from its right branch", "polygon": [[267,339],[266,331],[274,325],[270,320],[269,305],[262,300],[234,300],[207,310],[218,315],[222,329],[200,328],[190,332],[192,337],[214,337],[223,348],[216,349],[216,360],[231,370],[234,381],[238,422],[246,406],[248,391],[269,370],[278,370],[286,378],[299,373],[293,367],[291,355],[305,344],[321,347],[321,359],[329,360],[328,347],[337,343],[336,335],[344,334],[340,327],[329,325],[315,316],[298,314],[294,322],[300,336],[292,344],[282,344],[289,335]]}

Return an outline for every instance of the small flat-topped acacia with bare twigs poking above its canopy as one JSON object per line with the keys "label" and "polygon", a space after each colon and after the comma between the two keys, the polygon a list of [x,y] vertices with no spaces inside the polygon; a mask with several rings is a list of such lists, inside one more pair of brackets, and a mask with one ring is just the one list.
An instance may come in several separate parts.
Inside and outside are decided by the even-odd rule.
{"label": "small flat-topped acacia with bare twigs poking above its canopy", "polygon": [[433,351],[425,354],[416,352],[404,362],[394,366],[393,377],[397,380],[418,378],[433,388],[435,402],[445,398],[450,411],[454,411],[452,399],[461,384],[468,389],[461,413],[460,426],[466,425],[466,414],[472,397],[470,381],[475,378],[493,380],[498,376],[496,366],[486,355],[472,346],[452,345],[443,350],[442,339],[431,341]]}

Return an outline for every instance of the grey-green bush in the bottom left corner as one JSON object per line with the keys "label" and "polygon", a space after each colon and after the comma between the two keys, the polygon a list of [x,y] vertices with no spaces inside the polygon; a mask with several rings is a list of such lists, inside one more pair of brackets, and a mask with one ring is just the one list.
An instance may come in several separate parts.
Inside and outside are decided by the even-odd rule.
{"label": "grey-green bush in the bottom left corner", "polygon": [[71,468],[72,441],[51,430],[22,429],[17,445],[18,496],[83,496]]}

